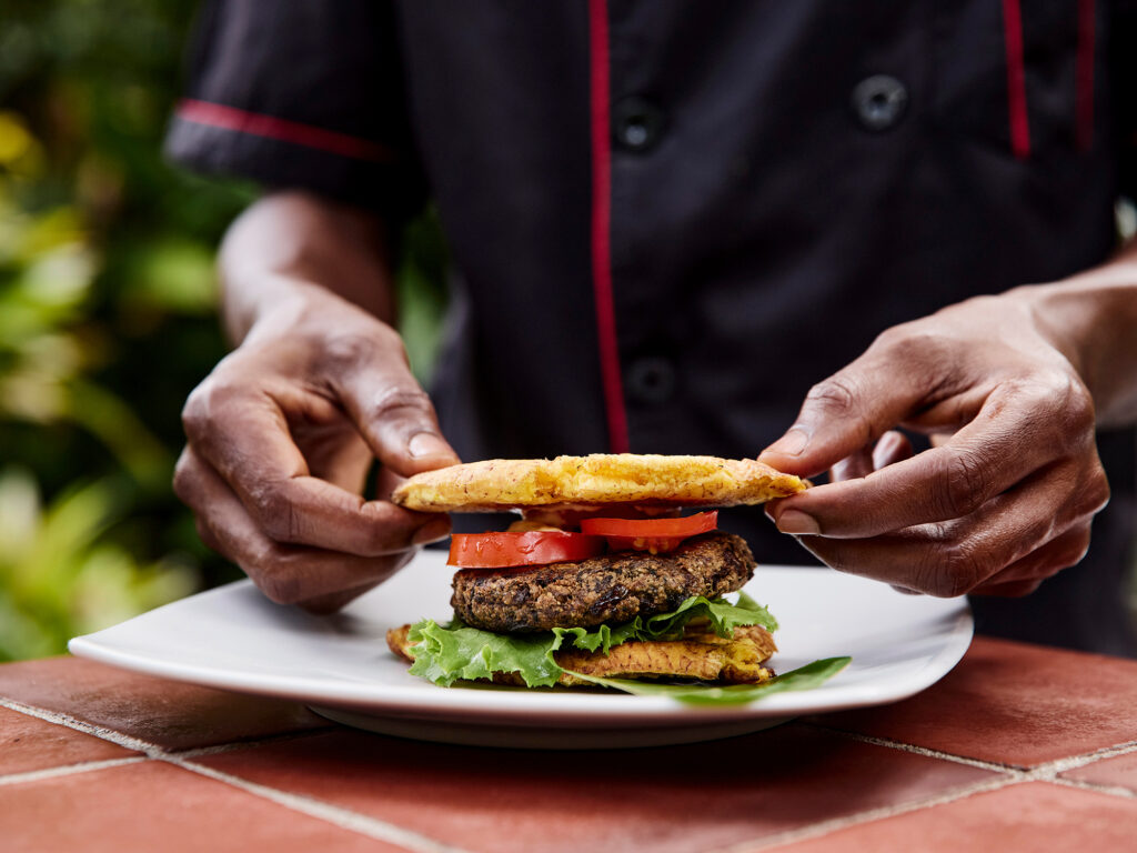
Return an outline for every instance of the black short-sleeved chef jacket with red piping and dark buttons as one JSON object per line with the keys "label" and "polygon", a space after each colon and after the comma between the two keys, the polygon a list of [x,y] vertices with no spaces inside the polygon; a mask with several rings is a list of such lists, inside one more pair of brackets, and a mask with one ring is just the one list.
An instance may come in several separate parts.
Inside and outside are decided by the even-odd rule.
{"label": "black short-sleeved chef jacket with red piping and dark buttons", "polygon": [[[1137,106],[1105,0],[227,0],[172,156],[454,258],[437,386],[466,459],[753,456],[881,330],[1115,248]],[[1080,566],[997,633],[1131,652],[1131,433]],[[757,510],[766,562],[806,562]]]}

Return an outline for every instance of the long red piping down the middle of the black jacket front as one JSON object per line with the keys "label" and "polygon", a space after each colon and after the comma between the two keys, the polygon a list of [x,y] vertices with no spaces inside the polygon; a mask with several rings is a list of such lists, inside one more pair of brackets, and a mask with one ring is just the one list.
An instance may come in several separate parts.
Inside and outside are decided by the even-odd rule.
{"label": "long red piping down the middle of the black jacket front", "polygon": [[612,296],[612,131],[608,88],[608,3],[589,0],[590,106],[592,113],[592,292],[600,350],[600,381],[612,453],[628,453],[628,413],[624,411],[616,338],[616,308]]}

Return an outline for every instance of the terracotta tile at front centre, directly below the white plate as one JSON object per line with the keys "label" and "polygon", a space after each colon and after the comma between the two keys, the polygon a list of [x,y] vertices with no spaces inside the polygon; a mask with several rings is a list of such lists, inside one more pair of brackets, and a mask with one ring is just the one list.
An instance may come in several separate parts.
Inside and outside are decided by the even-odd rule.
{"label": "terracotta tile at front centre, directly below the white plate", "polygon": [[615,754],[459,750],[343,731],[202,763],[501,853],[588,850],[601,837],[609,850],[715,848],[996,778],[802,726]]}

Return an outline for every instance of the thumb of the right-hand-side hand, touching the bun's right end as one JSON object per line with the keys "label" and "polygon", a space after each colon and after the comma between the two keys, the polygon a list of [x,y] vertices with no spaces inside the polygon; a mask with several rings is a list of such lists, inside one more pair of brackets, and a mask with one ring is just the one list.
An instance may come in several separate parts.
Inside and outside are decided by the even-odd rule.
{"label": "thumb of the right-hand-side hand, touching the bun's right end", "polygon": [[916,373],[875,354],[861,356],[810,389],[794,425],[758,455],[758,462],[815,477],[871,447],[921,405],[924,392],[916,386]]}

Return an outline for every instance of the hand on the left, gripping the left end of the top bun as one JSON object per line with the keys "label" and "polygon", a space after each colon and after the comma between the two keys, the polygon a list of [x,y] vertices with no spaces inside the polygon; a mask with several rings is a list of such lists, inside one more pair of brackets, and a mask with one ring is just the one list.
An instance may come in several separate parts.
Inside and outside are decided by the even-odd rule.
{"label": "hand on the left, gripping the left end of the top bun", "polygon": [[458,458],[389,325],[323,288],[288,291],[190,396],[174,488],[269,598],[329,612],[449,532],[385,498]]}

